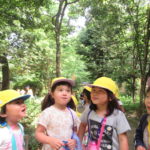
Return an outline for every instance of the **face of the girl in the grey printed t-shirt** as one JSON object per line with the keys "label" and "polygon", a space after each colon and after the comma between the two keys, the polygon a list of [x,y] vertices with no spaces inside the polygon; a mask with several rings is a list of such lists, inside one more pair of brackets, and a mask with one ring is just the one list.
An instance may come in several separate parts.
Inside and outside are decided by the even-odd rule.
{"label": "face of the girl in the grey printed t-shirt", "polygon": [[103,105],[108,103],[107,92],[103,88],[93,87],[91,91],[91,100],[93,104]]}

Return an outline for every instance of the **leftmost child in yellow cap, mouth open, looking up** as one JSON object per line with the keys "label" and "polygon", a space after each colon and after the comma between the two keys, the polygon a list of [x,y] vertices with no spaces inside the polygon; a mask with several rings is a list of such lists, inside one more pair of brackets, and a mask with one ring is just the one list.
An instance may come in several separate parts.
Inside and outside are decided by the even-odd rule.
{"label": "leftmost child in yellow cap, mouth open, looking up", "polygon": [[24,150],[24,130],[18,122],[26,116],[24,100],[29,97],[21,96],[15,90],[0,91],[1,150]]}

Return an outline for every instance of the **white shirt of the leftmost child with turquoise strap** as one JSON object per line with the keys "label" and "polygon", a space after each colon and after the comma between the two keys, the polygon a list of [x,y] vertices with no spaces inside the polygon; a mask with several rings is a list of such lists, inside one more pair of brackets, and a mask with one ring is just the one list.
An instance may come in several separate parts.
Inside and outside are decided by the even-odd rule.
{"label": "white shirt of the leftmost child with turquoise strap", "polygon": [[[23,150],[23,126],[19,130],[10,130],[8,127],[0,128],[0,150],[12,150],[12,134],[15,136],[16,150]],[[21,131],[22,130],[22,131]]]}

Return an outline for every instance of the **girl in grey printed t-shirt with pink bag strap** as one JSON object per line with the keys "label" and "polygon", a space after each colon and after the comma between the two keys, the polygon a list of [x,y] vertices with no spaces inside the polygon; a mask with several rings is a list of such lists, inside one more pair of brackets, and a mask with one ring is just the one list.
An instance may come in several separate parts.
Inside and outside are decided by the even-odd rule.
{"label": "girl in grey printed t-shirt with pink bag strap", "polygon": [[88,124],[88,150],[128,150],[126,132],[130,126],[115,97],[116,84],[107,77],[98,78],[91,91],[90,109],[81,116],[78,135],[82,141]]}

